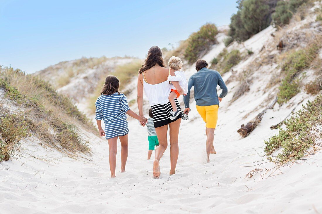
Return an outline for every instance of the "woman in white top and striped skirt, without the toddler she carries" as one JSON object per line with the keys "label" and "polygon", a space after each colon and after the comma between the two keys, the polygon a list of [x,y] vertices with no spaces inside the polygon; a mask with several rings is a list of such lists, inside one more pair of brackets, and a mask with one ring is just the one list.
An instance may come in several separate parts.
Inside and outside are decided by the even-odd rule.
{"label": "woman in white top and striped skirt, without the toddler she carries", "polygon": [[[138,71],[139,75],[137,77],[137,106],[139,115],[144,117],[144,89],[152,108],[154,127],[156,128],[156,135],[159,140],[159,146],[156,147],[156,155],[153,162],[153,177],[159,178],[161,174],[159,161],[168,146],[166,136],[168,126],[170,128],[170,174],[175,174],[175,167],[177,165],[179,155],[178,136],[182,114],[180,113],[180,116],[174,120],[170,120],[172,115],[172,106],[168,99],[171,91],[168,76],[175,76],[175,73],[170,71],[169,68],[166,68],[162,58],[161,49],[157,46],[151,47],[144,62],[144,65],[142,65]],[[175,89],[179,94],[184,93],[178,82],[172,82],[172,84],[175,86]],[[177,99],[175,99],[175,103],[177,109],[181,111],[180,104]]]}

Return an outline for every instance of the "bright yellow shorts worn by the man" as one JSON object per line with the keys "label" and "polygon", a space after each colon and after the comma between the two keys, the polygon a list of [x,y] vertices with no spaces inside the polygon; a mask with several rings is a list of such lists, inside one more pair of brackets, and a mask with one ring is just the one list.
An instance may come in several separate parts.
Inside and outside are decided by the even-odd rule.
{"label": "bright yellow shorts worn by the man", "polygon": [[215,129],[218,120],[218,105],[199,106],[197,105],[197,111],[200,116],[206,122],[206,127]]}

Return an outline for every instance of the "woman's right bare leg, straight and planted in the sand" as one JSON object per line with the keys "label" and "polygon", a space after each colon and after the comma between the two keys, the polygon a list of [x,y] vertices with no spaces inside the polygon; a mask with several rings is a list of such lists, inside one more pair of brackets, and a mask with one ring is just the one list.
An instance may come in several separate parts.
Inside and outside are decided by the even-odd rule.
{"label": "woman's right bare leg, straight and planted in the sand", "polygon": [[170,127],[170,174],[175,174],[175,167],[177,165],[179,156],[179,128],[180,128],[181,118],[169,123]]}

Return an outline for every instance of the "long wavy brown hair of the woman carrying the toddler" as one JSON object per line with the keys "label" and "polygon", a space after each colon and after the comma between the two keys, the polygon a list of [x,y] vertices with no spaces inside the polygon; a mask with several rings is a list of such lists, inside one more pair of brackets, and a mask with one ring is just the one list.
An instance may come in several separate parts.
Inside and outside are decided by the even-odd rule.
{"label": "long wavy brown hair of the woman carrying the toddler", "polygon": [[139,69],[139,74],[156,64],[161,67],[166,67],[162,58],[162,50],[158,46],[153,46],[147,52],[147,58],[144,60],[144,65]]}

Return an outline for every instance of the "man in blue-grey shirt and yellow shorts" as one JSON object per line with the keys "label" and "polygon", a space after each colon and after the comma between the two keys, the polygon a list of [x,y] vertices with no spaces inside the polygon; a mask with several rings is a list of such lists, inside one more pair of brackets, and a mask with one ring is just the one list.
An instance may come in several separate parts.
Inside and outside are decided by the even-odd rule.
{"label": "man in blue-grey shirt and yellow shorts", "polygon": [[[213,135],[218,120],[219,103],[226,96],[228,89],[225,85],[220,73],[215,70],[208,69],[208,63],[199,59],[196,62],[197,73],[194,73],[188,81],[188,93],[184,96],[185,114],[188,114],[190,108],[190,90],[194,86],[194,99],[196,108],[200,116],[206,123],[206,151],[209,162],[209,154],[216,154],[213,147]],[[222,93],[218,96],[217,85],[222,89]]]}

